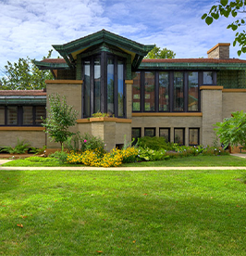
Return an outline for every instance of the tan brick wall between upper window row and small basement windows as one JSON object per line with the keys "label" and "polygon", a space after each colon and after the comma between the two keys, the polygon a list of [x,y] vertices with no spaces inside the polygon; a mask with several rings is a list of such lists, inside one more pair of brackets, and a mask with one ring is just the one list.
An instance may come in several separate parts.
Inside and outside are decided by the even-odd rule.
{"label": "tan brick wall between upper window row and small basement windows", "polygon": [[[132,128],[141,128],[141,136],[144,136],[144,128],[155,128],[156,136],[159,136],[159,128],[170,128],[170,141],[174,142],[174,128],[185,128],[185,145],[189,145],[189,128],[202,128],[202,117],[132,117]],[[202,141],[200,130],[200,141]]]}

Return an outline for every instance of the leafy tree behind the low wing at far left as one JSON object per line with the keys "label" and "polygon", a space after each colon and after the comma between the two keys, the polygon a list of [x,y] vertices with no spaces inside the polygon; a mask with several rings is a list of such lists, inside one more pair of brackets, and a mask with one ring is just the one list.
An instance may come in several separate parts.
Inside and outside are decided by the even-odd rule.
{"label": "leafy tree behind the low wing at far left", "polygon": [[[51,57],[52,50],[47,57]],[[4,76],[0,79],[1,90],[40,90],[46,87],[45,80],[52,80],[50,70],[39,70],[34,64],[35,59],[19,58],[18,62],[7,61]]]}

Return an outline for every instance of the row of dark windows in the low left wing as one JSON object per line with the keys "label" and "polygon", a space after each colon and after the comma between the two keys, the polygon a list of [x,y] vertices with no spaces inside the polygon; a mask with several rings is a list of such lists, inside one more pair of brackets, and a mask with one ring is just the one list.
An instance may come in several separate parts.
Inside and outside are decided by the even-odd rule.
{"label": "row of dark windows in the low left wing", "polygon": [[43,106],[0,106],[0,125],[41,126],[45,116]]}

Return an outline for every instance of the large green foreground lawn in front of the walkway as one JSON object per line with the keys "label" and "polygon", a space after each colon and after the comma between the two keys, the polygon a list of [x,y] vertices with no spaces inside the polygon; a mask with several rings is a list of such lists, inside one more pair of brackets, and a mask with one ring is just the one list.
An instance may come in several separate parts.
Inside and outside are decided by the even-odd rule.
{"label": "large green foreground lawn in front of the walkway", "polygon": [[1,171],[0,254],[245,255],[245,180],[241,170]]}

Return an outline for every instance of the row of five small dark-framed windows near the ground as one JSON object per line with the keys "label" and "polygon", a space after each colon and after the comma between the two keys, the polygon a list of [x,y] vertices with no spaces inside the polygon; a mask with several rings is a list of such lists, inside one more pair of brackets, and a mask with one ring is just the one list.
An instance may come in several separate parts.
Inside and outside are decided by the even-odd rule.
{"label": "row of five small dark-framed windows near the ground", "polygon": [[[132,128],[131,130],[132,138],[141,137],[141,128]],[[144,128],[144,136],[154,137],[155,128]],[[167,142],[170,142],[170,128],[159,128],[159,136],[165,137]],[[189,128],[189,145],[197,146],[200,144],[200,129],[199,128]],[[174,140],[175,143],[179,145],[185,145],[185,128],[174,128]]]}

